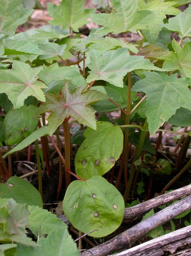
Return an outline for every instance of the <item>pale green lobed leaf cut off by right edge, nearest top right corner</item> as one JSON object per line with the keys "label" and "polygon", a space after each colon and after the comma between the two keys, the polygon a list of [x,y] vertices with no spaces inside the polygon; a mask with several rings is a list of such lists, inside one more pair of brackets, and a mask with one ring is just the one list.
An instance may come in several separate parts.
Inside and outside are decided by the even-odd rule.
{"label": "pale green lobed leaf cut off by right edge, nearest top right corner", "polygon": [[190,15],[191,5],[176,17],[170,18],[168,23],[163,24],[163,27],[178,32],[180,38],[191,36]]}

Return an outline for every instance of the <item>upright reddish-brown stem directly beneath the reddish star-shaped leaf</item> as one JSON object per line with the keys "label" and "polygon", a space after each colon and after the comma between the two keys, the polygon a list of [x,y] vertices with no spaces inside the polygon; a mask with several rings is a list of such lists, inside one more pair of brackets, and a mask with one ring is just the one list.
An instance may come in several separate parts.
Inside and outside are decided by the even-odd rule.
{"label": "upright reddish-brown stem directly beneath the reddish star-shaped leaf", "polygon": [[66,178],[66,188],[70,185],[70,131],[68,122],[63,122],[63,130],[64,130],[64,139],[65,139],[65,178]]}

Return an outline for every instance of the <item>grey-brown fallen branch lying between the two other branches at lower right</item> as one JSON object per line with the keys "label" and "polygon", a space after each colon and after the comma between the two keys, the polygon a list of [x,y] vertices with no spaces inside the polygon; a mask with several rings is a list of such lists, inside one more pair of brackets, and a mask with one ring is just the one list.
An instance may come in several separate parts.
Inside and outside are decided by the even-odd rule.
{"label": "grey-brown fallen branch lying between the two other branches at lower right", "polygon": [[[172,205],[166,207],[165,209],[155,213],[150,218],[136,224],[132,228],[120,233],[114,238],[95,246],[89,251],[95,256],[107,256],[108,254],[114,253],[124,248],[128,248],[136,242],[143,235],[148,233],[154,228],[163,225],[169,220],[172,220],[176,216],[184,213],[191,209],[191,195],[188,197],[173,203]],[[89,256],[89,252],[83,252],[81,256]]]}

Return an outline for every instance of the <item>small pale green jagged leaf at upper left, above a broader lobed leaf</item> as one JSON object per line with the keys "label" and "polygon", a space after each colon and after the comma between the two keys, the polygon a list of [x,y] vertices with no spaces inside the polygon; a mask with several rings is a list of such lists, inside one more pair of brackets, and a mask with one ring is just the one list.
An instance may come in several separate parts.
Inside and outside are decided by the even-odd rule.
{"label": "small pale green jagged leaf at upper left, above a broader lobed leaf", "polygon": [[57,43],[39,43],[40,50],[44,51],[39,59],[49,59],[55,56],[62,56],[65,51],[66,45],[58,45]]}

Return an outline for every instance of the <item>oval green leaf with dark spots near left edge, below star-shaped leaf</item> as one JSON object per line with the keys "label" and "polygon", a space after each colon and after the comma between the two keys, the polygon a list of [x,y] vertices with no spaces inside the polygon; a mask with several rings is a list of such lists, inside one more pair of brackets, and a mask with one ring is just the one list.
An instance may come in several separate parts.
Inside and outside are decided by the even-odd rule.
{"label": "oval green leaf with dark spots near left edge, below star-shaped leaf", "polygon": [[37,108],[33,105],[24,105],[7,112],[4,128],[8,145],[18,144],[36,129],[39,122],[39,117],[34,115],[36,110]]}

